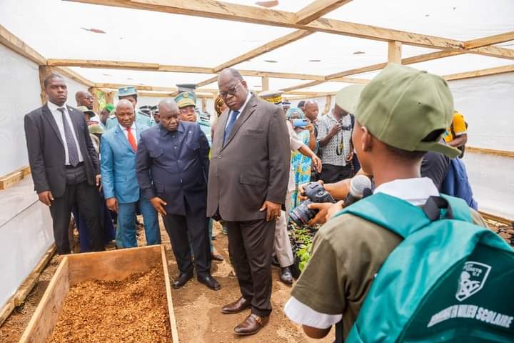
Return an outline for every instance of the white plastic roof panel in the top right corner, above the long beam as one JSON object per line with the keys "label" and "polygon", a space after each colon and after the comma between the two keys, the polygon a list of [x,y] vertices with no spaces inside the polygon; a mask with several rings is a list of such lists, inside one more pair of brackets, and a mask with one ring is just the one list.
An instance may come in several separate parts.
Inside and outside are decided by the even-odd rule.
{"label": "white plastic roof panel in the top right corner, above the long beam", "polygon": [[513,31],[514,1],[358,0],[326,17],[465,41]]}

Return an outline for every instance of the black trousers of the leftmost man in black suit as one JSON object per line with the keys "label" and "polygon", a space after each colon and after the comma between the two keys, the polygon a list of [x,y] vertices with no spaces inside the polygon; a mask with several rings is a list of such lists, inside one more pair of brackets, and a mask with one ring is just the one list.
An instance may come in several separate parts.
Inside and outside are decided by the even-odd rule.
{"label": "black trousers of the leftmost man in black suit", "polygon": [[57,254],[69,254],[68,235],[71,209],[76,204],[79,214],[89,229],[91,250],[104,250],[104,227],[101,223],[100,195],[95,186],[87,182],[84,166],[66,169],[66,188],[61,197],[54,198],[50,205],[50,214],[54,226],[54,239]]}

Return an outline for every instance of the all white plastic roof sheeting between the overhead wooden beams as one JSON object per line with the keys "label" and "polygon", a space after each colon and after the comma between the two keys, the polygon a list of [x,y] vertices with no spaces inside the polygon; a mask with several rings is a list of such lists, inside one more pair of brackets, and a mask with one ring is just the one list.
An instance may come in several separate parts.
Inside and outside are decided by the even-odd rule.
{"label": "all white plastic roof sheeting between the overhead wooden beams", "polygon": [[[253,0],[228,1],[258,6]],[[272,9],[298,11],[308,0],[280,0]],[[196,16],[79,4],[59,0],[2,0],[0,22],[46,58],[138,61],[213,68],[290,34],[295,29],[207,19]],[[39,15],[41,13],[51,15]],[[327,18],[468,40],[514,31],[514,1],[350,1]],[[54,18],[59,18],[56,24]],[[30,25],[27,25],[30,22]],[[38,28],[38,29],[34,29]],[[93,31],[91,31],[93,30]],[[98,30],[105,33],[96,33]],[[514,43],[498,44],[514,49]],[[404,58],[436,49],[403,44]],[[316,32],[291,44],[237,64],[236,68],[325,76],[387,61],[388,44],[351,36]],[[512,64],[512,60],[464,54],[413,64],[446,75]],[[94,82],[175,86],[200,82],[208,74],[78,69]],[[351,77],[370,79],[376,72]],[[302,84],[270,81],[271,88]],[[260,81],[252,81],[260,84]],[[252,88],[252,87],[251,87]],[[329,91],[337,91],[335,86]],[[253,87],[258,90],[258,86]],[[323,89],[327,89],[323,86]]]}

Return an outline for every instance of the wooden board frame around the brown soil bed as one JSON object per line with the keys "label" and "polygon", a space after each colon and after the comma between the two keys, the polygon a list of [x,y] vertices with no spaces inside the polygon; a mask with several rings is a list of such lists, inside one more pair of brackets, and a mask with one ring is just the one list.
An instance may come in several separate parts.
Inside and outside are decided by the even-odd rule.
{"label": "wooden board frame around the brown soil bed", "polygon": [[[162,273],[160,269],[162,269]],[[167,314],[171,328],[171,340],[168,342],[178,343],[168,264],[162,245],[110,252],[71,254],[63,257],[19,342],[41,343],[51,337],[71,287],[80,286],[80,284],[89,282],[88,280],[99,280],[100,283],[123,282],[136,273],[151,271],[163,274],[164,284],[162,287],[166,289],[165,301],[168,305]],[[123,304],[117,304],[117,307],[123,306]]]}

